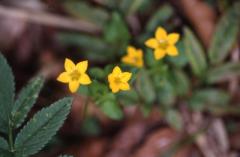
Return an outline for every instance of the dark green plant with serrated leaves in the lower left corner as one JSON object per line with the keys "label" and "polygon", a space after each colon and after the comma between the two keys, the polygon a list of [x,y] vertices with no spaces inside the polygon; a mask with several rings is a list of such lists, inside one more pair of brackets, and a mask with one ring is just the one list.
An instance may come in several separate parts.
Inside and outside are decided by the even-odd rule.
{"label": "dark green plant with serrated leaves in the lower left corner", "polygon": [[0,156],[28,157],[39,152],[63,125],[72,98],[63,98],[37,112],[26,123],[44,79],[37,76],[15,99],[12,70],[0,54]]}

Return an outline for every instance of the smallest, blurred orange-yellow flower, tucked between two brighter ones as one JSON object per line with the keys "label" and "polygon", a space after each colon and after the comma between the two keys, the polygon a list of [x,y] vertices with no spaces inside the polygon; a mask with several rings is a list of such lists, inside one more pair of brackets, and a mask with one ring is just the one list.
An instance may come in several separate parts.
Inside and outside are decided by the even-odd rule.
{"label": "smallest, blurred orange-yellow flower, tucked between two brighter ones", "polygon": [[143,52],[133,46],[127,47],[127,55],[122,58],[122,62],[141,68],[143,66]]}

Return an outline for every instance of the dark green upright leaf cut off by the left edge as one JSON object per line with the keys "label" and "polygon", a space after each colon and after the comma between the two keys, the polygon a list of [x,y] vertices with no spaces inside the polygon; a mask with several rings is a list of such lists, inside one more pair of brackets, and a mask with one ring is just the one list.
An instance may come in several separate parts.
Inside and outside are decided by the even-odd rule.
{"label": "dark green upright leaf cut off by the left edge", "polygon": [[14,92],[14,77],[7,60],[0,53],[0,131],[7,132],[11,115]]}

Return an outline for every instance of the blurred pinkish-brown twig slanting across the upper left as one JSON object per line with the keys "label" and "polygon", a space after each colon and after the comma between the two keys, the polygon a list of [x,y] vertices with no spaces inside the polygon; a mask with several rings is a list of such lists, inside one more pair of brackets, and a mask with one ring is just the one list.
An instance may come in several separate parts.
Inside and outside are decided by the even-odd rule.
{"label": "blurred pinkish-brown twig slanting across the upper left", "polygon": [[0,5],[0,16],[20,19],[45,26],[54,26],[86,33],[98,33],[101,29],[87,21],[67,18],[42,11],[30,11]]}

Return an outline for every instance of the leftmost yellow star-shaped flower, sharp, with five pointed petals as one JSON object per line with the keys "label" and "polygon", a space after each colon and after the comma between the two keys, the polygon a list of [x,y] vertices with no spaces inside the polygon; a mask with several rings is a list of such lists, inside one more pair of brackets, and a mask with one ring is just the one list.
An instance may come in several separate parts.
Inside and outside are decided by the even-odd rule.
{"label": "leftmost yellow star-shaped flower, sharp, with five pointed petals", "polygon": [[57,80],[62,83],[69,83],[69,89],[75,93],[80,84],[88,85],[91,83],[89,76],[86,74],[88,61],[82,61],[75,65],[73,61],[66,58],[64,63],[65,72],[61,73]]}

